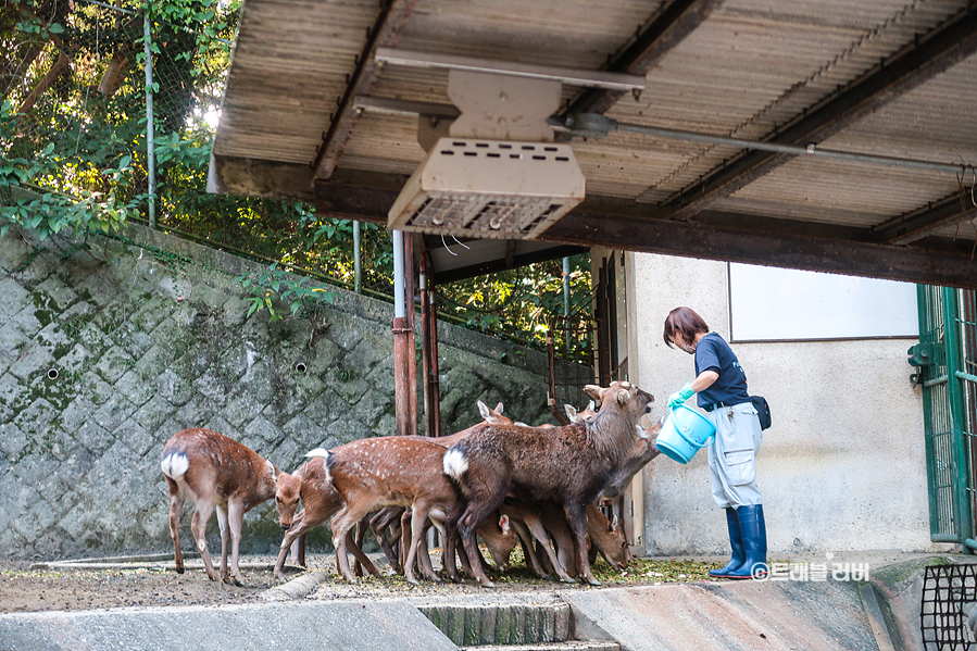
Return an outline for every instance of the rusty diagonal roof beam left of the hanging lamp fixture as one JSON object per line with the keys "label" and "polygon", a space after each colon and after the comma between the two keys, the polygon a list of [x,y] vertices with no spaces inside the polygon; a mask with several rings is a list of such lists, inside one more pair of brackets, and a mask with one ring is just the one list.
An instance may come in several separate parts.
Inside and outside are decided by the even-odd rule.
{"label": "rusty diagonal roof beam left of the hanging lamp fixture", "polygon": [[333,175],[339,157],[342,154],[342,148],[346,147],[346,142],[356,125],[356,118],[360,116],[353,100],[358,95],[369,95],[369,89],[376,83],[379,65],[374,53],[378,47],[392,46],[397,41],[416,1],[384,0],[381,2],[379,14],[374,21],[373,27],[366,33],[366,40],[356,58],[356,65],[350,75],[346,91],[337,102],[329,129],[323,136],[315,160],[312,162],[316,179],[329,178]]}

